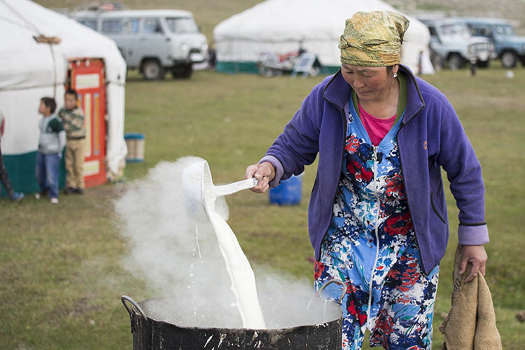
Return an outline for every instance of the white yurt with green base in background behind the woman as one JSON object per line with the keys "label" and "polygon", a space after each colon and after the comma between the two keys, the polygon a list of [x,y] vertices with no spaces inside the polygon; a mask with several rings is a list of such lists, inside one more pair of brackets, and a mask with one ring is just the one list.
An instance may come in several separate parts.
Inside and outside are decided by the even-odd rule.
{"label": "white yurt with green base in background behind the woman", "polygon": [[[219,71],[255,72],[262,52],[280,55],[302,48],[317,55],[321,64],[339,69],[339,36],[344,22],[358,11],[395,10],[379,0],[266,0],[219,23],[214,41]],[[422,52],[422,73],[433,73],[428,51],[428,28],[405,15],[410,26],[402,44],[402,63],[418,69]]]}

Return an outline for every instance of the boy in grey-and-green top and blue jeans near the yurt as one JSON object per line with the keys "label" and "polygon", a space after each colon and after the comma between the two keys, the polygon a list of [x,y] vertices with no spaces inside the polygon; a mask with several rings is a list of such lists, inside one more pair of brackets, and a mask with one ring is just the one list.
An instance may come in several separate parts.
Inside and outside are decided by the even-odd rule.
{"label": "boy in grey-and-green top and blue jeans near the yurt", "polygon": [[49,191],[50,202],[58,203],[58,174],[62,149],[66,146],[66,132],[62,120],[57,117],[55,109],[57,103],[51,97],[42,97],[38,113],[43,118],[38,122],[40,139],[38,139],[38,153],[36,155],[36,180],[40,186],[40,193],[35,195],[40,199]]}

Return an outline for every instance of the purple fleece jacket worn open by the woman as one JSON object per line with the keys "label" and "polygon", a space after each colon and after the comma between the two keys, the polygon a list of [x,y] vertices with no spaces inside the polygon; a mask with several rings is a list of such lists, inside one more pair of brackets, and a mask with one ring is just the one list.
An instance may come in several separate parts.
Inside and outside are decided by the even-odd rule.
{"label": "purple fleece jacket worn open by the woman", "polygon": [[[459,209],[459,244],[489,241],[484,213],[482,170],[456,111],[447,98],[406,66],[407,107],[398,132],[398,147],[410,216],[426,273],[442,259],[449,239],[447,204],[441,168],[447,172]],[[328,76],[302,102],[260,162],[276,169],[270,186],[300,174],[319,154],[308,209],[308,230],[316,259],[330,225],[341,174],[351,87],[341,71]]]}

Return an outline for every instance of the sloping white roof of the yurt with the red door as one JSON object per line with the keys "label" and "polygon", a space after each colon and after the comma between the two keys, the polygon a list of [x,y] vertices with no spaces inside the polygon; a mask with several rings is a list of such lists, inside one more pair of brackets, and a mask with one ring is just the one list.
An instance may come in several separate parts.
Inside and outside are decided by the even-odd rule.
{"label": "sloping white roof of the yurt with the red door", "polygon": [[106,79],[124,83],[126,64],[110,38],[29,0],[0,0],[0,13],[0,30],[4,34],[0,50],[0,90],[50,81],[52,65],[46,61],[53,57],[48,44],[36,42],[34,36],[38,35],[60,39],[60,43],[52,44],[55,61],[102,58]]}

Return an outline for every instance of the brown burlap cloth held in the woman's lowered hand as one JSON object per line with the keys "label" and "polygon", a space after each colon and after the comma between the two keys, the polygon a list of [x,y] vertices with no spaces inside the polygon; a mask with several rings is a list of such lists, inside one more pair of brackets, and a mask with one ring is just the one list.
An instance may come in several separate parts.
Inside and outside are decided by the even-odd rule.
{"label": "brown burlap cloth held in the woman's lowered hand", "polygon": [[468,264],[459,274],[461,246],[454,257],[454,291],[449,314],[440,325],[444,335],[443,350],[500,350],[501,339],[496,328],[496,314],[492,296],[481,272],[477,278],[465,283],[472,268]]}

